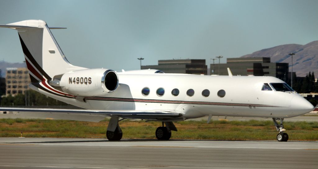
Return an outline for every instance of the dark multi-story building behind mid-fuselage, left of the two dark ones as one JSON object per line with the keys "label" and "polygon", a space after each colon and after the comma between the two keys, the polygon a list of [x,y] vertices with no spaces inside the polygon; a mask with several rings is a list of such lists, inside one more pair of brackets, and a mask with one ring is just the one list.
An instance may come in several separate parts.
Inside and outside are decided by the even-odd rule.
{"label": "dark multi-story building behind mid-fuselage, left of the two dark ones", "polygon": [[158,60],[158,65],[142,66],[141,69],[157,69],[165,73],[207,74],[205,59]]}

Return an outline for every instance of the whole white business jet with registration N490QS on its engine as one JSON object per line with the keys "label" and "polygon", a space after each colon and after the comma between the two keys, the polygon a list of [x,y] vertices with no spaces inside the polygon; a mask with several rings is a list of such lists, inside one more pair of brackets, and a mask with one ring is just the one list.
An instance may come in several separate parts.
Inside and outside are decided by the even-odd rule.
{"label": "whole white business jet with registration N490QS on its engine", "polygon": [[[287,141],[284,118],[314,109],[284,81],[265,76],[203,76],[168,74],[158,70],[115,72],[70,64],[42,20],[0,25],[18,31],[30,88],[83,110],[1,108],[1,111],[46,113],[60,119],[100,121],[111,117],[108,140],[120,140],[123,119],[161,121],[156,138],[168,140],[174,121],[208,116],[273,118],[276,139]],[[92,57],[92,56],[90,56]],[[66,116],[67,117],[66,117]],[[81,117],[75,118],[75,117]],[[83,118],[84,117],[84,118]]]}

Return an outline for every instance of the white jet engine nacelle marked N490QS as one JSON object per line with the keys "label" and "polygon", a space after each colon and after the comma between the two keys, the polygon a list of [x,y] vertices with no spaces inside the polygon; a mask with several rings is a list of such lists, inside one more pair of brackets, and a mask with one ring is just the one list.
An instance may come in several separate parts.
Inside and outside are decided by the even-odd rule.
{"label": "white jet engine nacelle marked N490QS", "polygon": [[100,96],[116,90],[118,75],[108,69],[85,69],[67,72],[60,81],[53,78],[50,84],[77,96]]}

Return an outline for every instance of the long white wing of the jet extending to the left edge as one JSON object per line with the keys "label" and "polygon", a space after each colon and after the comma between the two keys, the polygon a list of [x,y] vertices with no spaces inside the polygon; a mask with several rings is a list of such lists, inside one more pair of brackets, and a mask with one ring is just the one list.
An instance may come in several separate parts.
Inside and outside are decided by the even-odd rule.
{"label": "long white wing of the jet extending to the left edge", "polygon": [[[11,108],[1,107],[3,112],[18,112],[19,118],[53,118],[78,121],[99,122],[106,116],[118,116],[121,118],[147,119],[147,120],[171,120],[183,116],[173,110],[86,110],[86,109],[44,109],[44,108]],[[1,117],[1,116],[0,116]]]}

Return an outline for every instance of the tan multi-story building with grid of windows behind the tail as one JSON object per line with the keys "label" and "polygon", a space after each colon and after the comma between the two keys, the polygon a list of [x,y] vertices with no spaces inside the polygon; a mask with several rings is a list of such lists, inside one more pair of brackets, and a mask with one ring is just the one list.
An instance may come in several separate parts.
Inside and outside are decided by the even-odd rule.
{"label": "tan multi-story building with grid of windows behind the tail", "polygon": [[6,96],[29,90],[31,80],[27,68],[7,68],[6,71]]}

